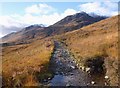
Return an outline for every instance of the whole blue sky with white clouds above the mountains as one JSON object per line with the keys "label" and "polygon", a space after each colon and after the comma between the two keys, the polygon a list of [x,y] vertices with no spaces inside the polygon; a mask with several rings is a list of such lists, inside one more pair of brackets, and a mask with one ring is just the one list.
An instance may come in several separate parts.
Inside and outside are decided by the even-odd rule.
{"label": "whole blue sky with white clouds above the mountains", "polygon": [[[2,0],[1,0],[2,1]],[[118,2],[4,2],[0,3],[0,37],[22,28],[43,24],[52,25],[68,15],[84,11],[103,16],[118,14]]]}

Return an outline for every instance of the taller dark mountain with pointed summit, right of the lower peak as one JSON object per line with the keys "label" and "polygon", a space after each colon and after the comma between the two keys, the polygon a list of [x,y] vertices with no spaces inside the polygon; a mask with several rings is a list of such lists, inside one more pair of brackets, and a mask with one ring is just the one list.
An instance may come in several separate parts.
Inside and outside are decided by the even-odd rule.
{"label": "taller dark mountain with pointed summit, right of the lower peak", "polygon": [[58,21],[57,23],[53,24],[52,26],[48,27],[50,29],[51,34],[62,34],[65,32],[77,30],[89,24],[98,22],[100,20],[106,19],[107,17],[104,16],[96,16],[92,17],[85,12],[76,13],[74,15],[69,15],[62,20]]}

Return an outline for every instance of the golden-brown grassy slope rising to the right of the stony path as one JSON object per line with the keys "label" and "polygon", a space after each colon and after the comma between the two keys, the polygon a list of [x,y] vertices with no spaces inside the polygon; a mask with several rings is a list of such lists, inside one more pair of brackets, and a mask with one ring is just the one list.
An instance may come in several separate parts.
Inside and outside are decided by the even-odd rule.
{"label": "golden-brown grassy slope rising to the right of the stony path", "polygon": [[86,66],[87,61],[99,57],[104,59],[109,85],[118,85],[118,16],[68,32],[58,38],[75,56],[80,66]]}

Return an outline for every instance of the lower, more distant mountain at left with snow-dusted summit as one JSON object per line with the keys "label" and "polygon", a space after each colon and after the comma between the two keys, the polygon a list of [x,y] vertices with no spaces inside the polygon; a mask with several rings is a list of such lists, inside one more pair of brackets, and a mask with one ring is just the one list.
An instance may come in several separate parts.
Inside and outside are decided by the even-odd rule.
{"label": "lower, more distant mountain at left with snow-dusted summit", "polygon": [[2,42],[24,42],[35,38],[44,25],[30,25],[23,28],[21,31],[10,33],[2,38]]}

